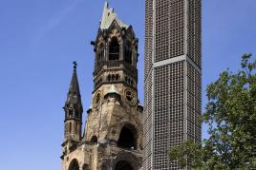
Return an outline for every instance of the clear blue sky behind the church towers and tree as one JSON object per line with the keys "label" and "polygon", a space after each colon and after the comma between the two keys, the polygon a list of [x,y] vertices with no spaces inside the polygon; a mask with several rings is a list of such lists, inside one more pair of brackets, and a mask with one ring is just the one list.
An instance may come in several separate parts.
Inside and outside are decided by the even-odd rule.
{"label": "clear blue sky behind the church towers and tree", "polygon": [[[62,106],[77,74],[84,110],[91,104],[96,32],[103,0],[0,0],[0,169],[60,169]],[[139,99],[143,101],[144,1],[110,0],[139,37]],[[245,52],[256,56],[256,1],[203,0],[205,86]],[[203,126],[203,137],[206,129]]]}

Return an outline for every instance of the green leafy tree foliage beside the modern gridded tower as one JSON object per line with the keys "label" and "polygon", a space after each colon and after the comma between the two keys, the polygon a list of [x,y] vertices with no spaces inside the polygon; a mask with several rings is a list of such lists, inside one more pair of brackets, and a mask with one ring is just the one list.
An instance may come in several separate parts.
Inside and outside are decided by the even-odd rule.
{"label": "green leafy tree foliage beside the modern gridded tower", "polygon": [[191,158],[192,167],[200,169],[256,168],[256,61],[245,54],[241,70],[222,72],[206,91],[202,121],[209,126],[209,139],[203,146],[184,142],[170,148],[170,160],[184,167]]}

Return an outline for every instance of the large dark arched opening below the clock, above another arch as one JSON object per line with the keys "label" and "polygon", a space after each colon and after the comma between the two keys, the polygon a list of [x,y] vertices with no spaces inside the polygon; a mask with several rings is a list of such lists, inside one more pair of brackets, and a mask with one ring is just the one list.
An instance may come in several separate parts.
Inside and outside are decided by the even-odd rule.
{"label": "large dark arched opening below the clock, above another arch", "polygon": [[137,149],[138,141],[137,130],[132,124],[126,124],[122,127],[117,145],[127,149]]}

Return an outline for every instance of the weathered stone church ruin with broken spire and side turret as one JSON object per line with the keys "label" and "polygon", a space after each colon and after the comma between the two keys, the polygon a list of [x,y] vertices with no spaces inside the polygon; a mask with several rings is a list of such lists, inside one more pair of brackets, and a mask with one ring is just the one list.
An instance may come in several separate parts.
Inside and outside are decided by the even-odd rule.
{"label": "weathered stone church ruin with broken spire and side turret", "polygon": [[76,64],[65,110],[62,170],[139,170],[142,111],[138,100],[138,39],[104,6],[96,41],[93,104],[83,136]]}

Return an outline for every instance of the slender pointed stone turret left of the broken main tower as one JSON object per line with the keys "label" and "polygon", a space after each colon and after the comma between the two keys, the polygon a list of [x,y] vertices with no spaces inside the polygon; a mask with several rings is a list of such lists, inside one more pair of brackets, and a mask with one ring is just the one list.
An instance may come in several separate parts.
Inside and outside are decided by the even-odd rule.
{"label": "slender pointed stone turret left of the broken main tower", "polygon": [[65,140],[80,141],[82,126],[82,102],[79,90],[78,79],[76,75],[76,62],[74,62],[74,72],[71,85],[68,92],[65,110]]}

